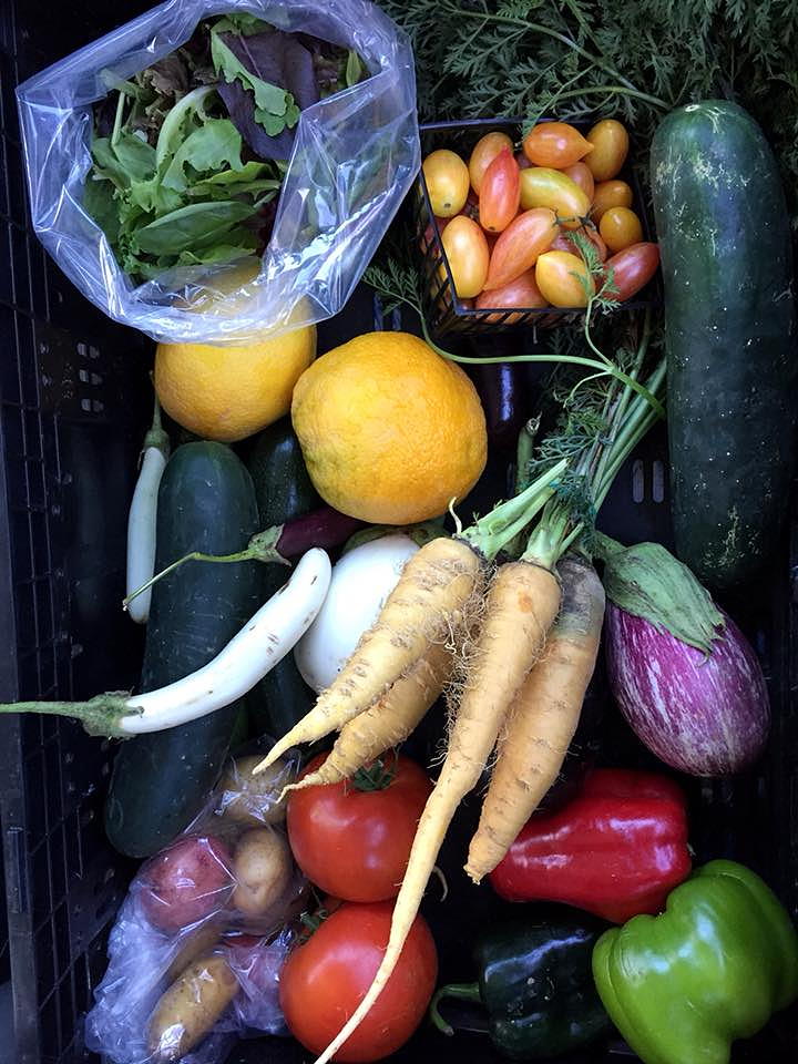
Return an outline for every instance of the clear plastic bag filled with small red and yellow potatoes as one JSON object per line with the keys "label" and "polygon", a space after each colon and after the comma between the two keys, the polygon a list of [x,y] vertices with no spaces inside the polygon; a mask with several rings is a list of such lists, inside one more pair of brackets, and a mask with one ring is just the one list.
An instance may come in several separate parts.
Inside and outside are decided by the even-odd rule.
{"label": "clear plastic bag filled with small red and yellow potatoes", "polygon": [[191,828],[150,858],[109,937],[86,1047],[113,1064],[221,1064],[237,1037],[287,1034],[279,971],[306,908],[278,798],[294,766],[227,766]]}

